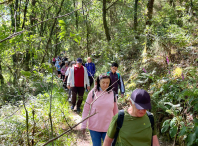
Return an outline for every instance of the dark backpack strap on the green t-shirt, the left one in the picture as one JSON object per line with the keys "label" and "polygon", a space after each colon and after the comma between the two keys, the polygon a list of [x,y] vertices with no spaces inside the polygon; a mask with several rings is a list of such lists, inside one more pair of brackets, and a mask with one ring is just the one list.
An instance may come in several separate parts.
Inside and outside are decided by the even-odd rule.
{"label": "dark backpack strap on the green t-shirt, the left one in the picture", "polygon": [[118,112],[116,133],[114,135],[114,139],[113,139],[113,142],[112,142],[111,146],[115,146],[115,144],[116,144],[116,141],[117,141],[117,138],[118,138],[118,134],[119,134],[120,129],[122,127],[123,121],[124,121],[124,110],[120,110]]}

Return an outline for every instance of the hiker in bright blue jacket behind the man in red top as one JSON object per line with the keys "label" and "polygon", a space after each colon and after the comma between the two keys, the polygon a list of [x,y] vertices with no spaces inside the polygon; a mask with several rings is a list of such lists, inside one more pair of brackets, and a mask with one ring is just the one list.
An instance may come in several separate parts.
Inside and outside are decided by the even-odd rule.
{"label": "hiker in bright blue jacket behind the man in red top", "polygon": [[94,80],[94,74],[96,72],[95,64],[92,62],[91,57],[87,58],[87,63],[85,64],[85,67],[87,68],[89,83],[91,87],[91,85],[93,84],[93,80]]}

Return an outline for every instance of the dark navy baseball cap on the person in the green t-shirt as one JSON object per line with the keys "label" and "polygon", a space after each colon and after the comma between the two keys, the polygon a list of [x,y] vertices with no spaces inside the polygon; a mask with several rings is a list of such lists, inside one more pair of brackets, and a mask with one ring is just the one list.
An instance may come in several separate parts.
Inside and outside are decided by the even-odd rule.
{"label": "dark navy baseball cap on the person in the green t-shirt", "polygon": [[151,109],[151,98],[144,89],[136,89],[131,94],[131,100],[134,101],[137,109]]}

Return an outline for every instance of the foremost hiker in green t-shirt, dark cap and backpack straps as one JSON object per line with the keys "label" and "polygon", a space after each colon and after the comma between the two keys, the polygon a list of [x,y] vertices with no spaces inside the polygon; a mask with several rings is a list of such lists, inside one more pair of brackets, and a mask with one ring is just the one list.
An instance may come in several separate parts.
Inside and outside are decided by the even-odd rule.
{"label": "foremost hiker in green t-shirt, dark cap and backpack straps", "polygon": [[154,117],[147,112],[151,109],[149,94],[143,89],[134,90],[130,105],[113,117],[103,146],[159,146]]}

